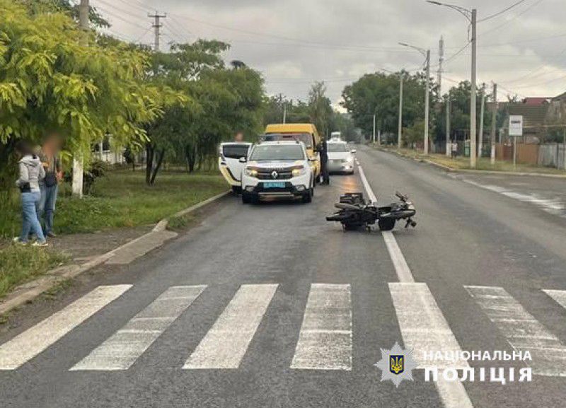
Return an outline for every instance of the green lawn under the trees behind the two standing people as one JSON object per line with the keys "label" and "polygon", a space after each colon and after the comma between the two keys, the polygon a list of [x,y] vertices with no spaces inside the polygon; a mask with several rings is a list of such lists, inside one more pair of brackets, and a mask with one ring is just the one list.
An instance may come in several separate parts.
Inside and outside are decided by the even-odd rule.
{"label": "green lawn under the trees behind the two standing people", "polygon": [[[189,206],[227,190],[218,174],[159,173],[148,186],[141,171],[115,170],[97,180],[89,196],[73,199],[59,194],[54,230],[60,234],[90,233],[157,223]],[[0,197],[1,198],[1,197]],[[18,194],[0,200],[0,236],[11,237],[21,226]]]}

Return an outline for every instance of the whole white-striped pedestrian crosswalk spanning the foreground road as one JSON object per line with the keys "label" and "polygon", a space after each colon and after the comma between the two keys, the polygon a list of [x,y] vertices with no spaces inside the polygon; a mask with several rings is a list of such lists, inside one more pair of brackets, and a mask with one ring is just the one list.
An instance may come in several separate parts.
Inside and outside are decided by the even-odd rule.
{"label": "whole white-striped pedestrian crosswalk spanning the foreground road", "polygon": [[[104,308],[127,295],[132,285],[99,286],[67,305],[54,315],[30,327],[0,345],[0,371],[14,371],[47,350],[88,319],[96,319]],[[504,288],[464,286],[478,311],[507,340],[509,351],[530,351],[529,365],[535,375],[566,376],[566,346],[531,315]],[[208,287],[171,286],[137,315],[126,321],[114,334],[74,362],[70,371],[125,371],[184,313],[191,313],[192,303],[205,298]],[[418,368],[427,368],[428,351],[442,351],[461,356],[449,322],[427,284],[401,282],[388,284],[403,344],[413,350]],[[243,284],[214,324],[192,350],[187,350],[183,370],[235,370],[260,337],[277,284]],[[546,289],[554,307],[566,309],[566,291]],[[133,295],[133,293],[132,293]],[[302,371],[352,371],[355,330],[352,325],[352,286],[349,284],[311,284],[296,334],[296,346],[289,369]],[[489,324],[489,323],[488,323]],[[178,327],[176,327],[178,330]],[[363,346],[363,345],[362,345]],[[387,345],[383,345],[387,346]],[[379,356],[376,356],[378,358]],[[467,361],[434,361],[439,368],[468,368]],[[440,366],[439,366],[440,364]],[[445,366],[443,366],[443,364]]]}

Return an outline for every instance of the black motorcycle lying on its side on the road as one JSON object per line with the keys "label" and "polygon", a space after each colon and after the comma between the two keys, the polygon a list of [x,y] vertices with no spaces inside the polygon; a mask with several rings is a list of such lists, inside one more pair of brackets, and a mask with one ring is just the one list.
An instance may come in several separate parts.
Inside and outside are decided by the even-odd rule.
{"label": "black motorcycle lying on its side on the road", "polygon": [[417,211],[409,197],[400,192],[395,192],[400,202],[394,202],[388,206],[374,206],[364,200],[362,193],[347,193],[340,196],[340,202],[334,204],[339,209],[332,216],[326,217],[326,221],[342,223],[345,231],[353,231],[366,228],[368,231],[375,223],[381,231],[391,231],[395,228],[397,221],[405,221],[405,228],[415,227],[417,223],[412,220]]}

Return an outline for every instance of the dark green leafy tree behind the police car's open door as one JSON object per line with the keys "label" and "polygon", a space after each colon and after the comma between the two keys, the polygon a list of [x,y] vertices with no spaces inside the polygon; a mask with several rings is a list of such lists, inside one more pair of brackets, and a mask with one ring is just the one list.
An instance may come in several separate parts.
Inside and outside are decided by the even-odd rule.
{"label": "dark green leafy tree behind the police car's open door", "polygon": [[245,64],[226,69],[224,42],[198,40],[154,54],[149,80],[185,96],[151,124],[146,142],[146,182],[154,184],[163,159],[185,161],[189,171],[216,158],[218,144],[235,132],[260,131],[263,81]]}

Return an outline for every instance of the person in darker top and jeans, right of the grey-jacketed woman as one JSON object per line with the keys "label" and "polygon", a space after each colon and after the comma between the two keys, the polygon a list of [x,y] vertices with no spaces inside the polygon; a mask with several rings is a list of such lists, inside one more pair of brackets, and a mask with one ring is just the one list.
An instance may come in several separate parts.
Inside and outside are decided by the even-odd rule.
{"label": "person in darker top and jeans, right of the grey-jacketed woman", "polygon": [[50,238],[57,235],[53,232],[55,204],[59,192],[59,181],[63,177],[61,161],[59,160],[59,142],[55,136],[50,136],[42,146],[42,165],[45,178],[40,181],[41,199],[37,208],[37,219],[43,224],[43,234]]}

